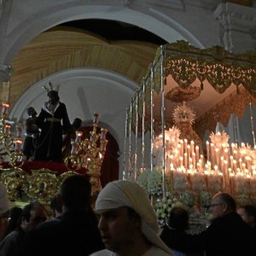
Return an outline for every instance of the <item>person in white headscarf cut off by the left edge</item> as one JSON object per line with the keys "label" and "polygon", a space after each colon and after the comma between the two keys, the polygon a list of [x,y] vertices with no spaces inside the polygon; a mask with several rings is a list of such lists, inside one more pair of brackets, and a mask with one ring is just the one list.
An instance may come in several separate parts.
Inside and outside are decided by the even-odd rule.
{"label": "person in white headscarf cut off by the left edge", "polygon": [[3,183],[0,183],[0,241],[8,226],[9,218],[9,197]]}

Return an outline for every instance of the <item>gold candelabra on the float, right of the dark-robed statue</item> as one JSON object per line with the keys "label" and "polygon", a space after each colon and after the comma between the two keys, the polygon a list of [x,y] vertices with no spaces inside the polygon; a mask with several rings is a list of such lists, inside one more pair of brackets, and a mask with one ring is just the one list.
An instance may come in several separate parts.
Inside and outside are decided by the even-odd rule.
{"label": "gold candelabra on the float, right of the dark-robed statue", "polygon": [[82,131],[76,131],[75,141],[72,142],[71,155],[65,159],[67,169],[70,171],[85,168],[90,176],[92,194],[100,191],[101,167],[108,140],[106,139],[107,129],[102,128],[97,132],[99,113],[94,113],[93,130],[90,131],[90,138],[84,138]]}

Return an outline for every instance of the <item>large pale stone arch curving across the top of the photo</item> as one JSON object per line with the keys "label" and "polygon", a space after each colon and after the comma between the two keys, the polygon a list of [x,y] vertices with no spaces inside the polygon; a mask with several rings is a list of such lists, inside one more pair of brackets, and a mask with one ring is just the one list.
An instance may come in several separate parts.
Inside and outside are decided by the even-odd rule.
{"label": "large pale stone arch curving across the top of the photo", "polygon": [[38,15],[28,16],[26,20],[21,21],[9,32],[9,42],[5,45],[3,63],[10,63],[19,50],[39,33],[44,32],[50,27],[59,25],[70,20],[81,19],[106,19],[119,20],[140,26],[149,32],[153,32],[167,42],[177,40],[187,40],[197,47],[202,47],[200,41],[195,38],[186,28],[177,21],[158,11],[151,10],[148,13],[120,6],[108,6],[104,4],[85,4],[76,3],[47,5],[47,9],[38,11]]}

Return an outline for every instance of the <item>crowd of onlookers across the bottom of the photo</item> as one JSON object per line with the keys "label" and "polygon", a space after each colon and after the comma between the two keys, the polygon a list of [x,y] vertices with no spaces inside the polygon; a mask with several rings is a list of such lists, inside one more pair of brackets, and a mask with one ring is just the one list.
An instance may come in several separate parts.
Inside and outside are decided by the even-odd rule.
{"label": "crowd of onlookers across the bottom of the photo", "polygon": [[[212,197],[212,223],[191,235],[189,212],[173,207],[163,230],[148,195],[136,182],[108,183],[91,206],[85,175],[67,177],[49,209],[37,201],[9,209],[0,183],[0,255],[247,256],[255,255],[256,208],[236,207],[219,192]],[[50,218],[49,218],[50,216]]]}

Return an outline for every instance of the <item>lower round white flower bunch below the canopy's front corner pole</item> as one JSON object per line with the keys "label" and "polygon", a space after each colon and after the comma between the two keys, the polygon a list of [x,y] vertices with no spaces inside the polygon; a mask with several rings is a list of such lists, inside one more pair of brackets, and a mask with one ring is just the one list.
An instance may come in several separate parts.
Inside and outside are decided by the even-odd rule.
{"label": "lower round white flower bunch below the canopy's front corner pole", "polygon": [[156,217],[159,220],[166,220],[170,217],[172,207],[186,208],[182,201],[179,201],[176,197],[173,197],[170,192],[167,192],[165,197],[158,199],[154,204]]}

